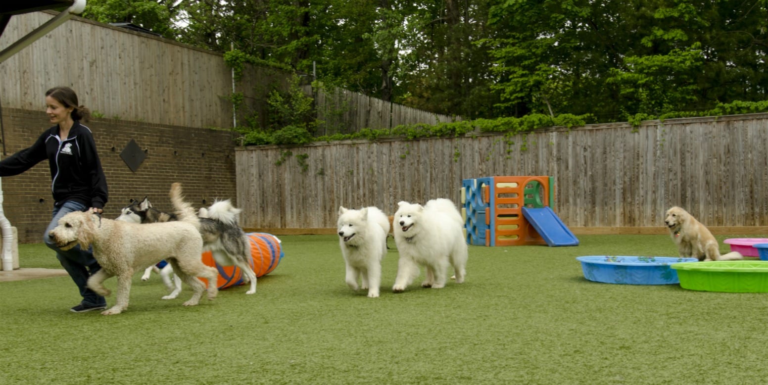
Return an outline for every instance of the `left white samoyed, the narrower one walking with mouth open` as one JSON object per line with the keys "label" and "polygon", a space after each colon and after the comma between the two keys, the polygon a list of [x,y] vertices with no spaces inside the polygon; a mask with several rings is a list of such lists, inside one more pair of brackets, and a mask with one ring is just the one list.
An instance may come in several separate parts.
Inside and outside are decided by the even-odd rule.
{"label": "left white samoyed, the narrower one walking with mouth open", "polygon": [[368,297],[379,297],[381,261],[386,254],[389,218],[377,207],[339,207],[339,246],[346,264],[346,284],[357,290],[358,277]]}

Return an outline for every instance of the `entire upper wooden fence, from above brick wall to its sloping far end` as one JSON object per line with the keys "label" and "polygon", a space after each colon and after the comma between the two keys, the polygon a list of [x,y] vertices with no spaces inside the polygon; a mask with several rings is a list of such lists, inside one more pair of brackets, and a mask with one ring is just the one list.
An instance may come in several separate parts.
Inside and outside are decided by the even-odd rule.
{"label": "entire upper wooden fence, from above brick wall to its sloping far end", "polygon": [[[0,37],[0,49],[54,15],[13,16]],[[103,118],[194,128],[231,128],[248,118],[263,127],[270,113],[266,98],[275,88],[287,90],[291,75],[246,67],[233,82],[232,70],[218,52],[73,17],[0,63],[0,102],[7,108],[40,111],[48,88],[68,85],[81,104]],[[310,86],[306,89],[313,94]],[[233,91],[244,97],[237,114],[230,101]],[[341,89],[313,96],[318,118],[325,121],[319,134],[457,119]]]}

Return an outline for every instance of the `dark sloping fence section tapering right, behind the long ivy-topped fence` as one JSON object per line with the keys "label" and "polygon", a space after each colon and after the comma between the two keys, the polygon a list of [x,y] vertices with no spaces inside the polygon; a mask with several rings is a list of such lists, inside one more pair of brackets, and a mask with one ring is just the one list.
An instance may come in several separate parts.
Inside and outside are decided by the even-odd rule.
{"label": "dark sloping fence section tapering right, behind the long ivy-topped fence", "polygon": [[439,115],[409,108],[389,101],[372,98],[342,88],[315,89],[303,86],[307,95],[315,99],[318,134],[351,134],[361,128],[392,128],[399,124],[437,124],[460,121],[461,117]]}

